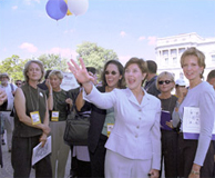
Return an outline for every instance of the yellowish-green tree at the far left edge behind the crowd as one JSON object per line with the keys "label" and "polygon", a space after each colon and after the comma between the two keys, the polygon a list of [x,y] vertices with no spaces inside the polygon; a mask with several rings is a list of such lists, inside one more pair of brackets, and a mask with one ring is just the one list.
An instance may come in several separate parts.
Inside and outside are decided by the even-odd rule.
{"label": "yellowish-green tree at the far left edge behind the crowd", "polygon": [[18,79],[23,80],[24,78],[22,72],[27,61],[28,59],[22,60],[19,56],[13,55],[0,62],[0,72],[7,72],[12,81]]}

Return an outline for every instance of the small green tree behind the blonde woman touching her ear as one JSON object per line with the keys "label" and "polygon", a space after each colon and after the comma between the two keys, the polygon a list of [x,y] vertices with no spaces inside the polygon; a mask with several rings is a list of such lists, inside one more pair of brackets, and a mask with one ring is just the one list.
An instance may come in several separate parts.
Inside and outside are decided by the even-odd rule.
{"label": "small green tree behind the blonde woman touching her ear", "polygon": [[38,59],[42,61],[45,70],[58,69],[64,72],[68,69],[66,59],[62,59],[59,55],[41,55]]}

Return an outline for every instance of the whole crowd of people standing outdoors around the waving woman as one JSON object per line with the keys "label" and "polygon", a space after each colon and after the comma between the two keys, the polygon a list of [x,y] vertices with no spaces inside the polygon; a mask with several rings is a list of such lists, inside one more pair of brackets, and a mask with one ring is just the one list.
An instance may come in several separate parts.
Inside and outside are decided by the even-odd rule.
{"label": "whole crowd of people standing outdoors around the waving woman", "polygon": [[[188,48],[181,57],[188,83],[168,71],[157,75],[155,61],[134,57],[124,67],[108,61],[98,85],[96,69],[85,67],[81,58],[80,63],[68,63],[80,85],[69,91],[61,88],[62,71],[45,72],[39,60],[25,63],[24,83],[9,83],[8,73],[0,75],[0,131],[7,130],[14,178],[30,176],[32,149],[44,146],[49,136],[51,154],[33,166],[35,177],[64,178],[68,159],[70,178],[215,176],[215,70],[203,80],[202,51]],[[90,119],[85,146],[63,140],[73,109]],[[185,109],[198,111],[199,130],[192,135],[185,129]]]}

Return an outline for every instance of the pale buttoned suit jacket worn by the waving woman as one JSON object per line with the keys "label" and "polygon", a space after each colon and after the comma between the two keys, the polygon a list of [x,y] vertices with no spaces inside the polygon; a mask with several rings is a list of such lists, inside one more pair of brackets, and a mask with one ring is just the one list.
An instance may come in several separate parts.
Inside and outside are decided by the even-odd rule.
{"label": "pale buttoned suit jacket worn by the waving woman", "polygon": [[160,169],[161,161],[161,101],[146,93],[141,105],[133,92],[114,89],[101,93],[93,86],[83,97],[101,109],[114,107],[115,125],[105,147],[131,159],[152,159],[152,168]]}

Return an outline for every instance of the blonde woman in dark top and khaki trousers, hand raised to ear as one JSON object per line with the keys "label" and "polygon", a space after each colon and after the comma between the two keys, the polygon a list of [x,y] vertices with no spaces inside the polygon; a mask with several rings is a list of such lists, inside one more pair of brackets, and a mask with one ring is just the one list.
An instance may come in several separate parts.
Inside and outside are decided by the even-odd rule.
{"label": "blonde woman in dark top and khaki trousers, hand raised to ear", "polygon": [[65,120],[72,106],[72,99],[65,90],[61,88],[63,80],[63,73],[60,70],[52,70],[49,73],[48,79],[50,80],[53,93],[53,108],[50,116],[50,127],[52,136],[52,175],[53,178],[64,177],[65,165],[70,147],[64,144],[63,134],[65,129]]}

